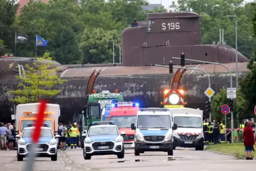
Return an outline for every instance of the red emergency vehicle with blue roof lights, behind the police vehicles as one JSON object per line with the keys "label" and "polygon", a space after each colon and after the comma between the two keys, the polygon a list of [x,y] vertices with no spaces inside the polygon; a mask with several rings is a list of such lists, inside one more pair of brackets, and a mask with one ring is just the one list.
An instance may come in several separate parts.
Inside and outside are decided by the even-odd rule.
{"label": "red emergency vehicle with blue roof lights, behind the police vehicles", "polygon": [[118,130],[125,132],[124,147],[134,147],[134,130],[131,129],[131,124],[136,122],[139,104],[134,102],[118,102],[113,104],[110,109],[109,121],[114,121]]}

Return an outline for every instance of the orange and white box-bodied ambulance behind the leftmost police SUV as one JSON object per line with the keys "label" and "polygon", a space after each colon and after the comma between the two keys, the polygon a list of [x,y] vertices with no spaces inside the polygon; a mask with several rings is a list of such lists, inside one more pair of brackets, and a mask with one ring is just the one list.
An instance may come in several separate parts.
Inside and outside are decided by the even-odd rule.
{"label": "orange and white box-bodied ambulance behind the leftmost police SUV", "polygon": [[[36,121],[39,105],[40,103],[20,104],[16,107],[16,131],[20,136],[27,124]],[[44,123],[48,124],[55,133],[58,131],[59,116],[61,116],[59,105],[46,104]]]}

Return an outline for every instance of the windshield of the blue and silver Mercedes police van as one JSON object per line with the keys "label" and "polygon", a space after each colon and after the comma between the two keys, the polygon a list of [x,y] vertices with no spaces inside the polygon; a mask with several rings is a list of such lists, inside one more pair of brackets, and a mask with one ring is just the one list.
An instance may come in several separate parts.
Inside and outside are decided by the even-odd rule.
{"label": "windshield of the blue and silver Mercedes police van", "polygon": [[139,115],[137,127],[142,128],[162,128],[170,129],[169,115]]}

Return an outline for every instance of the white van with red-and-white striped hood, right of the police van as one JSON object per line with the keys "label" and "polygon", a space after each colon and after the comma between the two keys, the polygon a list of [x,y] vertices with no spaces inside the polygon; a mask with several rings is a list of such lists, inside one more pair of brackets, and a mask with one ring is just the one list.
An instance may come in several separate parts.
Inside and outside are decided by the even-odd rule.
{"label": "white van with red-and-white striped hood, right of the police van", "polygon": [[173,124],[177,130],[173,131],[174,149],[176,147],[191,147],[203,150],[203,111],[193,108],[170,108]]}

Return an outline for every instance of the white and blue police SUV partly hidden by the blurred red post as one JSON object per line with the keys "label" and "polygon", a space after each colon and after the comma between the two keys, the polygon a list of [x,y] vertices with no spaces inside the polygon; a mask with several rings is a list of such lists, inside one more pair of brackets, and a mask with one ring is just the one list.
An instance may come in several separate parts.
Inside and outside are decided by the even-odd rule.
{"label": "white and blue police SUV partly hidden by the blurred red post", "polygon": [[[24,157],[28,157],[28,154],[32,147],[32,133],[35,130],[35,125],[27,124],[22,131],[21,136],[18,134],[15,138],[19,138],[17,159],[22,161]],[[37,157],[50,157],[52,161],[57,161],[57,144],[59,135],[53,134],[52,129],[47,123],[41,127],[41,135],[38,140],[36,154]]]}

